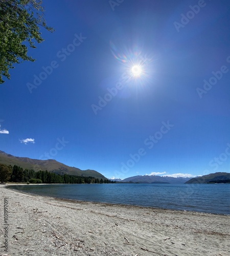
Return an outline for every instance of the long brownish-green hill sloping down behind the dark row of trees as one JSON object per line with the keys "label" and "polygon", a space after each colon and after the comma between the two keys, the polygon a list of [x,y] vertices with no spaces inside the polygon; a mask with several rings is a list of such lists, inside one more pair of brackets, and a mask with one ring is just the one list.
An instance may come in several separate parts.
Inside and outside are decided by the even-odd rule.
{"label": "long brownish-green hill sloping down behind the dark row of trees", "polygon": [[69,175],[77,175],[77,176],[91,176],[98,179],[106,179],[102,174],[97,172],[96,170],[81,170],[76,167],[70,167],[63,163],[60,163],[56,160],[38,160],[31,159],[28,157],[15,157],[10,154],[7,154],[3,151],[0,151],[0,163],[7,165],[18,165],[24,169],[34,169],[38,170],[48,170],[49,172],[56,174],[69,174]]}

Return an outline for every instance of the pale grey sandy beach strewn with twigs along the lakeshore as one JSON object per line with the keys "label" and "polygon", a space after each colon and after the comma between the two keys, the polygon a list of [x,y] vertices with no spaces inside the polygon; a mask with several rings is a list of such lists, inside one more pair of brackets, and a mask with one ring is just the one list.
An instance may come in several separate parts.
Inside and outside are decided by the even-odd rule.
{"label": "pale grey sandy beach strewn with twigs along the lakeshore", "polygon": [[230,255],[230,216],[62,200],[5,185],[0,195],[0,255]]}

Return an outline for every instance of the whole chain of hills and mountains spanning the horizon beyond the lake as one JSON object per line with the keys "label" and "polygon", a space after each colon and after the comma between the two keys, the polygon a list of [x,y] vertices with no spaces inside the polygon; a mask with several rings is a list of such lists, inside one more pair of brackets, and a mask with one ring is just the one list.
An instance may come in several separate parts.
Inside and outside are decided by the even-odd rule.
{"label": "whole chain of hills and mountains spanning the horizon beyond the lake", "polygon": [[[7,164],[7,165],[18,165],[24,169],[34,169],[35,171],[38,170],[48,170],[49,172],[55,174],[69,174],[69,175],[76,175],[76,176],[84,176],[84,177],[95,177],[98,179],[107,179],[105,176],[97,172],[96,170],[81,170],[76,167],[71,167],[60,163],[56,160],[49,159],[49,160],[38,160],[38,159],[31,159],[28,157],[15,157],[10,154],[7,154],[3,151],[0,151],[0,163]],[[230,173],[214,173],[209,175],[204,175],[201,177],[196,178],[184,178],[184,177],[168,177],[168,176],[157,176],[157,175],[138,175],[126,178],[124,180],[121,179],[110,179],[113,181],[118,182],[125,182],[125,183],[170,183],[170,184],[192,184],[192,183],[229,183],[230,181]]]}

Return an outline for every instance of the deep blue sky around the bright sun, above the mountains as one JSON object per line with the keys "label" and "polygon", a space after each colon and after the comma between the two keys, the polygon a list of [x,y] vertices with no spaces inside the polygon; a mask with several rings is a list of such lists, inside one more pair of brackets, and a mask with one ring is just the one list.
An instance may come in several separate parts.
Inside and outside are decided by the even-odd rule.
{"label": "deep blue sky around the bright sun, above the mountains", "polygon": [[43,6],[56,31],[0,86],[0,150],[107,178],[229,173],[229,1]]}

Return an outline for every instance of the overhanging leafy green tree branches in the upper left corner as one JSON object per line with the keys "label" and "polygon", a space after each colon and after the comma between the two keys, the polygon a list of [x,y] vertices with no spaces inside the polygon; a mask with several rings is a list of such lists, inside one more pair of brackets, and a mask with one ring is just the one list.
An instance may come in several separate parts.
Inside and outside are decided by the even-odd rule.
{"label": "overhanging leafy green tree branches in the upper left corner", "polygon": [[34,61],[28,56],[28,46],[42,42],[40,27],[53,32],[44,19],[41,0],[0,0],[0,83],[10,79],[9,69],[21,60]]}

